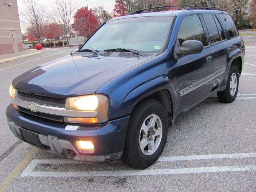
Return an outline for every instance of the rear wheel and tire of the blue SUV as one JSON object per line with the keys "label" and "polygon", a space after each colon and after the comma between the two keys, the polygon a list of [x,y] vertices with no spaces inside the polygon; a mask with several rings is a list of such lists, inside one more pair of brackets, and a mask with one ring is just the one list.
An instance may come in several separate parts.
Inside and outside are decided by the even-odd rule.
{"label": "rear wheel and tire of the blue SUV", "polygon": [[222,92],[217,92],[218,99],[224,103],[233,102],[236,99],[236,95],[238,92],[238,85],[239,85],[238,69],[236,68],[236,66],[232,65],[230,67],[226,89]]}

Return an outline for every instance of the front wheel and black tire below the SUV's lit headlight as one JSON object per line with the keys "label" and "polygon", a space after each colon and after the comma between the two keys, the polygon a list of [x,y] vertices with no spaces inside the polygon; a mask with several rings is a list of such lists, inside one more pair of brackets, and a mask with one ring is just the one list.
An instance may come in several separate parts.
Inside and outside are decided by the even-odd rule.
{"label": "front wheel and black tire below the SUV's lit headlight", "polygon": [[126,164],[144,169],[162,154],[168,134],[168,116],[156,100],[144,100],[132,112],[122,155]]}

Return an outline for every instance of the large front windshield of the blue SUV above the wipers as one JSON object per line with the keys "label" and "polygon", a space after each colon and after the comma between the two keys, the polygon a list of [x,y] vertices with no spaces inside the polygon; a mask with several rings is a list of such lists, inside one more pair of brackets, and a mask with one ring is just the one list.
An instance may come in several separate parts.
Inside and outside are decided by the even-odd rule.
{"label": "large front windshield of the blue SUV above the wipers", "polygon": [[173,17],[153,16],[109,21],[81,49],[159,51],[164,47]]}

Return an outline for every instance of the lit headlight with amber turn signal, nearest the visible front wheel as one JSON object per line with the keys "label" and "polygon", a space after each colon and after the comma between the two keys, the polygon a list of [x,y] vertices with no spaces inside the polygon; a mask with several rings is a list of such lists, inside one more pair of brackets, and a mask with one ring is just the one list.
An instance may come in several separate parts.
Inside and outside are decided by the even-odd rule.
{"label": "lit headlight with amber turn signal, nearest the visible front wheel", "polygon": [[65,122],[84,124],[104,123],[108,121],[109,99],[101,94],[70,97],[66,100],[65,109],[97,112],[97,116],[94,118],[65,117]]}

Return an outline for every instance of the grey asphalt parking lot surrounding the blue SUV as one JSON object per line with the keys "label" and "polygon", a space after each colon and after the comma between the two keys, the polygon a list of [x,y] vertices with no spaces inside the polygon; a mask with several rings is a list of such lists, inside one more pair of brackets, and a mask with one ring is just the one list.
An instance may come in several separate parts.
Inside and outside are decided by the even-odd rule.
{"label": "grey asphalt parking lot surrounding the blue SUV", "polygon": [[66,160],[12,135],[5,117],[12,79],[67,54],[44,50],[0,64],[0,191],[256,191],[256,45],[246,46],[237,99],[223,104],[213,95],[179,116],[162,156],[145,170]]}

